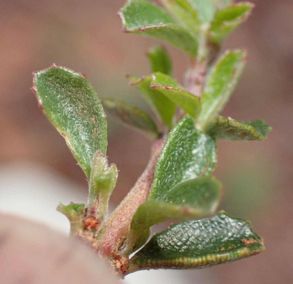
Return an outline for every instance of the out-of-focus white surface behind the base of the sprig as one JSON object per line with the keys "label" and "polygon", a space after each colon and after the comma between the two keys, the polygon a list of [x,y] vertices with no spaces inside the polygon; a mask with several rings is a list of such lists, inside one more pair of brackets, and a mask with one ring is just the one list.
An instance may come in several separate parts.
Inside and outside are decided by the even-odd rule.
{"label": "out-of-focus white surface behind the base of the sprig", "polygon": [[[68,235],[67,218],[56,211],[59,202],[86,202],[87,191],[41,165],[0,166],[0,211],[46,224]],[[205,284],[203,271],[150,270],[132,273],[121,284]]]}

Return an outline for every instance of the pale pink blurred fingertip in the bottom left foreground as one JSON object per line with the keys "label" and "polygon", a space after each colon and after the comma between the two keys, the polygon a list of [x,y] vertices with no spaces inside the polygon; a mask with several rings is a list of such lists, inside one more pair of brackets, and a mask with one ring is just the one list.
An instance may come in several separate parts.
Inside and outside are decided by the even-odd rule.
{"label": "pale pink blurred fingertip in the bottom left foreground", "polygon": [[118,283],[99,256],[47,227],[0,214],[1,284]]}

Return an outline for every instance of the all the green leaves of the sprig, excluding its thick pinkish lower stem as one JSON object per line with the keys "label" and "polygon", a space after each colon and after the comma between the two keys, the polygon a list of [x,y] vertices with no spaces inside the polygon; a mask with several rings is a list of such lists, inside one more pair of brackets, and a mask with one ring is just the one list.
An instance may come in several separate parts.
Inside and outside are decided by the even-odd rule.
{"label": "all the green leaves of the sprig, excluding its thick pinkish lower stem", "polygon": [[[165,140],[149,196],[138,204],[128,223],[124,217],[119,219],[130,225],[122,226],[121,231],[126,232],[119,238],[122,242],[111,244],[116,248],[107,256],[128,259],[147,242],[152,225],[173,219],[180,223],[154,235],[130,258],[124,274],[149,268],[206,267],[264,249],[262,239],[247,221],[224,212],[213,215],[222,194],[221,183],[212,176],[217,165],[217,139],[264,140],[271,130],[262,120],[240,122],[219,115],[247,59],[240,49],[219,54],[220,45],[250,15],[253,4],[230,0],[161,0],[161,4],[163,8],[150,1],[128,1],[119,12],[125,32],[155,37],[182,49],[191,68],[202,64],[206,74],[202,92],[194,94],[172,77],[166,48],[157,45],[150,49],[150,74],[129,79],[149,103],[156,122],[152,115],[120,100],[104,99],[102,107],[86,77],[67,68],[52,65],[34,73],[33,78],[40,108],[88,177],[87,206],[71,203],[58,207],[69,218],[74,234],[91,230],[98,242],[107,232],[104,220],[118,171],[105,156],[103,108],[147,137]],[[100,224],[106,225],[99,231]]]}

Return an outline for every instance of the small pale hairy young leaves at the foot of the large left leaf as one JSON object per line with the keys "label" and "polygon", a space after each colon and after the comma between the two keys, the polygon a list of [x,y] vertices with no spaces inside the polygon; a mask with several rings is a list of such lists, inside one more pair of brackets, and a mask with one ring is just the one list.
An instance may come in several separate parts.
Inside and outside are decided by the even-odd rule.
{"label": "small pale hairy young leaves at the foot of the large left leaf", "polygon": [[109,198],[116,185],[117,177],[116,165],[109,166],[107,157],[97,151],[92,163],[87,207],[99,220],[103,220],[108,212]]}

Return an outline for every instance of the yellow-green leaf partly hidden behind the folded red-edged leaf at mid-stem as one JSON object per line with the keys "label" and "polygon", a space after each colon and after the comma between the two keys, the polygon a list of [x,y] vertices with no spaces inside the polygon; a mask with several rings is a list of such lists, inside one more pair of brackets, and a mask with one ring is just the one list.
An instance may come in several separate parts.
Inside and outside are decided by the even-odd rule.
{"label": "yellow-green leaf partly hidden behind the folded red-edged leaf at mid-stem", "polygon": [[161,92],[151,89],[151,80],[151,76],[144,77],[140,80],[131,77],[130,84],[137,86],[159,119],[171,128],[176,105]]}

